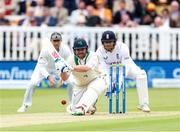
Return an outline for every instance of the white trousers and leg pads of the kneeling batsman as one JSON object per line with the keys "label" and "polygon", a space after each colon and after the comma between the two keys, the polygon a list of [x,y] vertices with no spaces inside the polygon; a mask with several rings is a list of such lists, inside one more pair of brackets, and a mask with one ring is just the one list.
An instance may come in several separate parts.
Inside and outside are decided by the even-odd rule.
{"label": "white trousers and leg pads of the kneeling batsman", "polygon": [[83,106],[85,112],[87,112],[106,88],[107,83],[104,77],[97,77],[86,86],[75,86],[73,89],[72,102],[70,104],[72,111],[76,107]]}

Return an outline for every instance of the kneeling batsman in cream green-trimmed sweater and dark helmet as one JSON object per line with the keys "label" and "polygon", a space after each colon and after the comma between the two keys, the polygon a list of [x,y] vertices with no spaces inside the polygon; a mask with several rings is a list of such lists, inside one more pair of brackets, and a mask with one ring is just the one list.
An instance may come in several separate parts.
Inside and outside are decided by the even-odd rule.
{"label": "kneeling batsman in cream green-trimmed sweater and dark helmet", "polygon": [[74,55],[68,59],[73,67],[70,80],[74,82],[72,103],[67,111],[72,115],[94,114],[98,96],[107,88],[103,75],[98,70],[98,57],[88,50],[84,39],[77,39]]}

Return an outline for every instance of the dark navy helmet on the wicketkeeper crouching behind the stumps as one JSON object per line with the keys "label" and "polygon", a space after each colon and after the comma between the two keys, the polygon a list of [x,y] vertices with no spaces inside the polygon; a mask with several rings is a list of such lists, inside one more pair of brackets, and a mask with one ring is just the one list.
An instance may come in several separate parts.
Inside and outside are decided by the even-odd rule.
{"label": "dark navy helmet on the wicketkeeper crouching behind the stumps", "polygon": [[116,35],[114,34],[114,32],[109,31],[109,30],[103,32],[102,38],[101,38],[102,44],[104,42],[112,42],[112,41],[114,41],[116,43],[116,40],[117,39],[116,39]]}

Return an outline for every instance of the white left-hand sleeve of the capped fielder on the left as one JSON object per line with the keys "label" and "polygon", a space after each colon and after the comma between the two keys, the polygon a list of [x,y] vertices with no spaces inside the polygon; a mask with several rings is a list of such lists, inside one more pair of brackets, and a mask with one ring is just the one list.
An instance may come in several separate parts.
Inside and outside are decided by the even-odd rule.
{"label": "white left-hand sleeve of the capped fielder on the left", "polygon": [[39,70],[41,74],[47,78],[50,74],[47,71],[46,67],[48,65],[48,54],[45,50],[41,50],[41,53],[38,58],[38,65],[39,65]]}

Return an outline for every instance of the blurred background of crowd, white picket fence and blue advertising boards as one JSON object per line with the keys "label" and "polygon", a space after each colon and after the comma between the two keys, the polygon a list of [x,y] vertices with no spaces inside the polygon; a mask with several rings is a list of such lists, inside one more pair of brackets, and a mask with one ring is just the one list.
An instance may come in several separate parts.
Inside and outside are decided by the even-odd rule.
{"label": "blurred background of crowd, white picket fence and blue advertising boards", "polygon": [[179,6],[179,0],[0,0],[0,89],[25,88],[52,32],[70,49],[83,37],[96,51],[105,30],[129,46],[150,88],[180,88]]}

